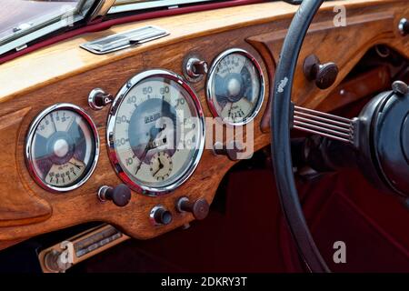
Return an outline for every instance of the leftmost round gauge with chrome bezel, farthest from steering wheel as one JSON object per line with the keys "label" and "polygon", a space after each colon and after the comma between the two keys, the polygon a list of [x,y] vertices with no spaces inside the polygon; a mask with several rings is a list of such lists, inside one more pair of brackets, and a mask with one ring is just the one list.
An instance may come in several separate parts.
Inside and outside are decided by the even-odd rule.
{"label": "leftmost round gauge with chrome bezel, farthest from steering wheel", "polygon": [[38,115],[25,142],[25,158],[35,181],[46,190],[66,192],[82,186],[99,156],[99,137],[79,107],[57,104]]}

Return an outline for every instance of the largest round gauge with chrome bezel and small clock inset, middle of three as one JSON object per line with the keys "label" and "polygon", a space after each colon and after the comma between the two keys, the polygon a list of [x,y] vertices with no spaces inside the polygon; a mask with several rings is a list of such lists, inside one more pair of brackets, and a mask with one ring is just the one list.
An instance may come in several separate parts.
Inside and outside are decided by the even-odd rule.
{"label": "largest round gauge with chrome bezel and small clock inset, middle of three", "polygon": [[193,173],[205,145],[205,120],[194,91],[165,70],[135,75],[108,118],[112,164],[135,191],[160,195]]}

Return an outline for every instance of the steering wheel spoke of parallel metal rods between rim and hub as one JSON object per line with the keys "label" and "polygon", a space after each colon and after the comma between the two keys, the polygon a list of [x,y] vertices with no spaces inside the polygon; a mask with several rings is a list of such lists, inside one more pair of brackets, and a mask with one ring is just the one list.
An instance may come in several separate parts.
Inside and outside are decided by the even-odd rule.
{"label": "steering wheel spoke of parallel metal rods between rim and hub", "polygon": [[354,119],[294,105],[293,128],[354,144]]}

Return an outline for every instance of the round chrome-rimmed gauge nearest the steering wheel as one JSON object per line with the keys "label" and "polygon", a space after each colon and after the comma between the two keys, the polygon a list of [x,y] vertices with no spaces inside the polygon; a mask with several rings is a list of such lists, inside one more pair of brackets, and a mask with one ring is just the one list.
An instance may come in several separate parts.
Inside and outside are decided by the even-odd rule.
{"label": "round chrome-rimmed gauge nearest the steering wheel", "polygon": [[232,48],[217,56],[207,77],[207,103],[229,125],[254,119],[264,99],[264,76],[253,55]]}

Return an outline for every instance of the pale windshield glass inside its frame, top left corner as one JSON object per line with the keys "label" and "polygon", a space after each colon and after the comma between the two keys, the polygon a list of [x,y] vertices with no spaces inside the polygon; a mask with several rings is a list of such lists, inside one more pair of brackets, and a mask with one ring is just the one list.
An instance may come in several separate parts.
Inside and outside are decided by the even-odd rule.
{"label": "pale windshield glass inside its frame, top left corner", "polygon": [[74,12],[79,0],[2,0],[0,39]]}

